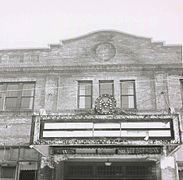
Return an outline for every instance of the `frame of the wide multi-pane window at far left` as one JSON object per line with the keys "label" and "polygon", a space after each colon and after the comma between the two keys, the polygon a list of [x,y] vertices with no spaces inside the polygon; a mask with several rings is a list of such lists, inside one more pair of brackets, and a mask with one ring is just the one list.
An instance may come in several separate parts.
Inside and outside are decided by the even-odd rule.
{"label": "frame of the wide multi-pane window at far left", "polygon": [[[33,85],[33,91],[32,91],[32,95],[29,96],[25,96],[23,95],[23,86],[26,84],[31,84]],[[34,101],[35,101],[35,88],[36,88],[36,82],[35,81],[20,81],[20,82],[0,82],[0,85],[2,85],[2,93],[1,93],[1,98],[2,98],[2,108],[0,109],[0,111],[15,111],[15,112],[20,112],[20,111],[33,111],[34,109]],[[17,98],[17,102],[16,102],[16,107],[15,108],[7,108],[6,107],[6,99],[7,98],[13,98],[13,96],[9,96],[8,95],[8,90],[7,87],[8,85],[18,85],[17,88],[17,96],[14,96],[15,98]],[[31,108],[24,108],[22,107],[22,99],[23,98],[30,98],[30,100],[32,100],[32,104],[31,104]]]}

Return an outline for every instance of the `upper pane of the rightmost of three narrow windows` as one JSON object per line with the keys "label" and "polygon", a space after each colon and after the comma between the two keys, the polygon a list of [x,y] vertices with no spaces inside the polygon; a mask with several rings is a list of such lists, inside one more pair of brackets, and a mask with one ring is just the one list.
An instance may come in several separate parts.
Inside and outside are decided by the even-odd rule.
{"label": "upper pane of the rightmost of three narrow windows", "polygon": [[132,82],[132,81],[121,82],[121,93],[122,93],[122,95],[133,95],[134,94],[134,82]]}

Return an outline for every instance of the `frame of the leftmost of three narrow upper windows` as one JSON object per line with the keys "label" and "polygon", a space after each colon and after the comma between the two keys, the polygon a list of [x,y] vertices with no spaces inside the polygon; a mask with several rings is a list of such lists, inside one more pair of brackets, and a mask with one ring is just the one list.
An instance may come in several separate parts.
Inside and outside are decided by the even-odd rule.
{"label": "frame of the leftmost of three narrow upper windows", "polygon": [[[77,81],[78,83],[78,93],[77,93],[77,108],[78,109],[92,109],[92,105],[93,105],[93,81],[92,80],[79,80]],[[80,95],[80,84],[81,83],[90,83],[90,87],[91,87],[91,94],[90,95]],[[90,108],[80,108],[80,97],[90,97],[91,98],[91,102],[90,102]]]}

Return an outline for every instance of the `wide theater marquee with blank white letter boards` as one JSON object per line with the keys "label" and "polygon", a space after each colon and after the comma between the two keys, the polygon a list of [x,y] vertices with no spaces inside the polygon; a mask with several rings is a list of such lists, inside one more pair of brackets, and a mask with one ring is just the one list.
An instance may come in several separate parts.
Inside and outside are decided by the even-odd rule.
{"label": "wide theater marquee with blank white letter boards", "polygon": [[[31,144],[62,147],[132,145],[133,148],[120,147],[116,151],[127,154],[139,154],[142,151],[142,154],[150,154],[153,148],[139,149],[138,145],[151,147],[180,143],[178,121],[177,116],[169,115],[33,116]],[[98,150],[97,153],[100,152]],[[94,153],[93,149],[91,151]]]}

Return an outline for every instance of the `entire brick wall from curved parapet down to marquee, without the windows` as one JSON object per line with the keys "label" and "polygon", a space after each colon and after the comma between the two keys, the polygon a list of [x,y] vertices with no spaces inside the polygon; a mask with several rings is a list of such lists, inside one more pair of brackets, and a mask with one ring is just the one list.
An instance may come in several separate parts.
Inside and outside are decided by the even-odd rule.
{"label": "entire brick wall from curved parapet down to marquee, without the windows", "polygon": [[[96,48],[102,43],[115,47],[116,54],[110,60],[97,57]],[[105,49],[103,52],[108,56],[114,53]],[[8,56],[13,54],[23,54],[23,62],[9,63]],[[39,54],[39,61],[30,61],[31,54]],[[181,46],[163,46],[123,33],[98,32],[63,41],[50,49],[0,50],[0,57],[0,82],[36,82],[36,113],[41,108],[48,113],[77,109],[78,80],[93,81],[93,107],[99,96],[99,80],[114,80],[115,99],[120,107],[119,83],[129,79],[136,82],[138,111],[167,111],[169,105],[177,111],[182,109]],[[0,144],[28,143],[32,113],[1,112]]]}

